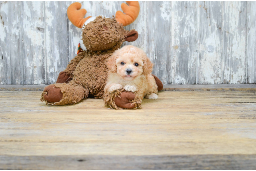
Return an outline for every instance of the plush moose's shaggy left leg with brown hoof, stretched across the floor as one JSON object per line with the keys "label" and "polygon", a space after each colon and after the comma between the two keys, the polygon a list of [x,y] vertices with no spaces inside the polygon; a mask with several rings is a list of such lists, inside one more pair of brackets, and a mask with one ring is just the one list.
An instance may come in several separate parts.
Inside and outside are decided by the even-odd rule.
{"label": "plush moose's shaggy left leg with brown hoof, stretched across the floor", "polygon": [[68,84],[51,84],[44,88],[41,101],[51,105],[75,104],[87,97],[89,91],[82,86],[74,83],[73,80]]}

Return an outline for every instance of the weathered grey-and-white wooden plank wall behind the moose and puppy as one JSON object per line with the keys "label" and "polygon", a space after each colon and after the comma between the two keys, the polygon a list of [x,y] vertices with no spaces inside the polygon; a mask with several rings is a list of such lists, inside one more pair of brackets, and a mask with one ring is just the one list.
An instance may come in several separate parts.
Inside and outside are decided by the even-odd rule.
{"label": "weathered grey-and-white wooden plank wall behind the moose and puppy", "polygon": [[[75,57],[74,1],[1,1],[0,84],[51,84]],[[86,16],[115,15],[124,1],[83,1]],[[164,84],[256,83],[255,1],[140,1],[132,44]]]}

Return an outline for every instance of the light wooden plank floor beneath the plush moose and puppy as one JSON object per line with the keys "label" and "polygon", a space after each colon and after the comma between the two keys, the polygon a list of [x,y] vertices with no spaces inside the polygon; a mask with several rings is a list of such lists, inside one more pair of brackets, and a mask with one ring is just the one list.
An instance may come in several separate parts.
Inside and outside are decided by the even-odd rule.
{"label": "light wooden plank floor beneath the plush moose and puppy", "polygon": [[0,91],[0,169],[255,169],[256,92],[159,92],[142,109]]}

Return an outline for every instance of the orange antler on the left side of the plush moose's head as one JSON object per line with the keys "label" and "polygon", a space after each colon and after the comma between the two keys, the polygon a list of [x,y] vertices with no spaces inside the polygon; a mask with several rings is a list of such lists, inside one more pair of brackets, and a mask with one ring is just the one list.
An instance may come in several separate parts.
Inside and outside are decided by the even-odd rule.
{"label": "orange antler on the left side of the plush moose's head", "polygon": [[81,9],[81,4],[79,2],[72,3],[67,8],[67,17],[76,27],[82,28],[86,20],[90,17],[84,18],[87,11],[85,9]]}

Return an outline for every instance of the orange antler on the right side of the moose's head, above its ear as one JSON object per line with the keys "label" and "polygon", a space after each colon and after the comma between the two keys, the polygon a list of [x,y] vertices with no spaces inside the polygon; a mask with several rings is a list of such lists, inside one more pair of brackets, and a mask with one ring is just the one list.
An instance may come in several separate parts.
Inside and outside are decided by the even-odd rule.
{"label": "orange antler on the right side of the moose's head, above its ear", "polygon": [[121,9],[124,13],[121,11],[116,12],[116,21],[124,26],[134,22],[140,12],[140,4],[138,1],[126,1],[126,3],[128,3],[128,5],[125,3],[121,4]]}

